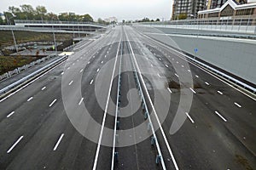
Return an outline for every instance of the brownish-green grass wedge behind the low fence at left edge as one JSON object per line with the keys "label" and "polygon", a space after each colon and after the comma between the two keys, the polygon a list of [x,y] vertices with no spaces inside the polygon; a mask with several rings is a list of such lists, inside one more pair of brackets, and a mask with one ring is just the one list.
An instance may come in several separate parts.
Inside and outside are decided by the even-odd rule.
{"label": "brownish-green grass wedge behind the low fence at left edge", "polygon": [[15,68],[22,65],[27,65],[33,60],[37,60],[36,57],[11,57],[11,56],[0,56],[0,75],[7,71],[13,71]]}

